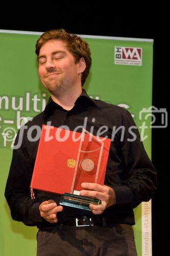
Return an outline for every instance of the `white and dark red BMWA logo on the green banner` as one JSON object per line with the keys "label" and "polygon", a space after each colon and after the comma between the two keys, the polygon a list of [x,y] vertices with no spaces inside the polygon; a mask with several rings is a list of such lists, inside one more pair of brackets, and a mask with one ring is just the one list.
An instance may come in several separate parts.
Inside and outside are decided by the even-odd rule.
{"label": "white and dark red BMWA logo on the green banner", "polygon": [[119,65],[142,65],[142,49],[136,47],[114,47],[114,63]]}

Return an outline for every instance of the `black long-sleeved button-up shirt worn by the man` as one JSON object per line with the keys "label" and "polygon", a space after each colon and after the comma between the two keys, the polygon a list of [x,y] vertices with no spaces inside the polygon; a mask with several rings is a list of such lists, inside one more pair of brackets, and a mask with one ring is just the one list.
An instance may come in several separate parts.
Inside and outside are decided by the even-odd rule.
{"label": "black long-sleeved button-up shirt worn by the man", "polygon": [[[29,141],[28,131],[31,126],[51,122],[59,127],[67,125],[70,131],[77,126],[96,135],[103,126],[102,137],[111,141],[105,185],[112,187],[116,195],[116,204],[108,207],[102,214],[114,223],[135,224],[133,208],[142,201],[149,201],[156,189],[156,170],[144,150],[140,135],[131,114],[119,106],[90,98],[85,90],[78,97],[74,107],[67,111],[48,100],[45,110],[25,124],[21,146],[13,150],[10,172],[5,189],[5,197],[11,209],[13,220],[22,221],[28,226],[54,226],[40,216],[39,205],[48,199],[57,204],[60,195],[34,190],[35,199],[30,196],[30,183],[36,159],[39,140]],[[37,127],[36,126],[36,127]],[[79,126],[79,127],[80,127]],[[129,130],[129,127],[132,127]],[[21,130],[21,129],[20,129]],[[81,132],[78,129],[77,132]],[[134,136],[136,139],[132,142]],[[37,137],[37,130],[32,130],[32,137]],[[19,132],[15,145],[19,143]],[[48,154],[48,152],[46,152]],[[94,216],[91,211],[64,206],[57,214],[59,222],[68,221],[79,216]]]}

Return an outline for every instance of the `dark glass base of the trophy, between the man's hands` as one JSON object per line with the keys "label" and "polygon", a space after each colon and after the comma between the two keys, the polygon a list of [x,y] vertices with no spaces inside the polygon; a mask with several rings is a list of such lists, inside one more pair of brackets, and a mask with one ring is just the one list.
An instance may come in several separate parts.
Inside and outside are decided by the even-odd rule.
{"label": "dark glass base of the trophy, between the man's hands", "polygon": [[102,202],[100,199],[93,199],[90,197],[77,196],[74,194],[65,193],[61,196],[60,205],[90,210],[89,205],[100,205]]}

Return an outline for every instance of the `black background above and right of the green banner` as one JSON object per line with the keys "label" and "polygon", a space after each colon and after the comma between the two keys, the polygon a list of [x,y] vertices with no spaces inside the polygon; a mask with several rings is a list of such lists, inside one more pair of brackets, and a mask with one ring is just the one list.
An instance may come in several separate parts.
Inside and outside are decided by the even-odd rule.
{"label": "black background above and right of the green banner", "polygon": [[[153,105],[167,109],[167,59],[169,58],[167,7],[148,3],[113,6],[99,3],[40,4],[41,9],[22,5],[20,11],[4,8],[0,29],[38,31],[63,28],[68,32],[86,35],[120,36],[154,39]],[[0,42],[1,43],[1,42]],[[152,131],[152,162],[158,173],[158,188],[152,200],[153,256],[166,255],[165,240],[168,236],[168,201],[165,180],[167,170],[167,128]],[[161,252],[160,252],[161,251]],[[168,251],[168,250],[167,250]]]}

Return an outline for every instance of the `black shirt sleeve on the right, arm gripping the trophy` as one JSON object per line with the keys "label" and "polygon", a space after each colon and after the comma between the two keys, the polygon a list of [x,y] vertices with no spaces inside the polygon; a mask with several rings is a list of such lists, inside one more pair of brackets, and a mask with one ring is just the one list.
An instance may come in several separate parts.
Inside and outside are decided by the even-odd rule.
{"label": "black shirt sleeve on the right, arm gripping the trophy", "polygon": [[121,184],[113,187],[115,206],[135,208],[142,201],[152,198],[157,187],[157,174],[144,149],[136,124],[127,110],[123,111],[122,127],[119,145],[124,178]]}

